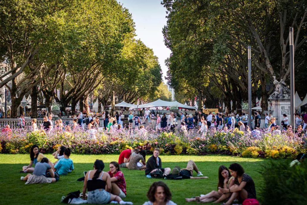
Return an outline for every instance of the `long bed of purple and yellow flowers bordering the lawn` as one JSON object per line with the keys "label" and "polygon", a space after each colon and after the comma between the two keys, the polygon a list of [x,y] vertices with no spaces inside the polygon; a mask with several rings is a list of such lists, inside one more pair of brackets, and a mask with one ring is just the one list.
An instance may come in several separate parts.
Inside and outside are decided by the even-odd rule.
{"label": "long bed of purple and yellow flowers bordering the lawn", "polygon": [[159,147],[167,155],[188,154],[227,154],[243,157],[294,158],[300,152],[306,152],[306,136],[287,137],[285,134],[259,132],[252,134],[235,129],[223,132],[210,129],[206,137],[192,133],[184,136],[180,132],[149,131],[141,136],[127,131],[99,131],[93,139],[92,133],[77,129],[71,132],[44,130],[31,132],[14,129],[13,132],[0,133],[1,153],[29,153],[33,144],[37,144],[40,152],[53,152],[58,146],[66,146],[74,153],[119,154],[127,148],[142,148],[152,151]]}

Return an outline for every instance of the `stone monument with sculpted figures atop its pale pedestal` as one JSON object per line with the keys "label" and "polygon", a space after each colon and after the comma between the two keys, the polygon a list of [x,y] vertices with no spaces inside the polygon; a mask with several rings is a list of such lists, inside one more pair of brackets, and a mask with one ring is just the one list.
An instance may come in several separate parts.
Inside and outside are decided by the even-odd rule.
{"label": "stone monument with sculpted figures atop its pale pedestal", "polygon": [[283,114],[287,114],[288,122],[291,122],[290,115],[290,89],[287,88],[284,81],[277,81],[276,77],[273,76],[275,85],[275,91],[270,95],[272,101],[271,113],[276,118],[276,124],[281,125],[281,121],[284,119]]}

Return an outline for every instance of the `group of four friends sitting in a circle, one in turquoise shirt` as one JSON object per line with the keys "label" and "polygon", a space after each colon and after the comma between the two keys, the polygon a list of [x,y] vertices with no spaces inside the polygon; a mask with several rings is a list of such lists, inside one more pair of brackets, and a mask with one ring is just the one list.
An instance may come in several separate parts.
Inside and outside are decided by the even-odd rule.
{"label": "group of four friends sitting in a circle, one in turquoise shirt", "polygon": [[[59,159],[54,164],[46,158],[42,153],[39,153],[38,146],[35,144],[30,150],[30,164],[23,166],[21,173],[27,172],[25,177],[21,177],[21,180],[29,183],[52,183],[59,180],[59,175],[67,175],[68,172],[74,170],[74,165],[69,156],[71,154],[70,148],[64,146],[59,147],[52,155],[56,159]],[[33,168],[32,165],[35,165]]]}

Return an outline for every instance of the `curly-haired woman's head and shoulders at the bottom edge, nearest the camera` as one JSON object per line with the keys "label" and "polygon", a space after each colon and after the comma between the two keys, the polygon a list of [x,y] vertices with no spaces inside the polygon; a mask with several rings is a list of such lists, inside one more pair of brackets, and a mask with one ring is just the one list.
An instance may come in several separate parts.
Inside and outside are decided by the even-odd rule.
{"label": "curly-haired woman's head and shoulders at the bottom edge, nearest the camera", "polygon": [[176,205],[172,199],[172,193],[164,182],[154,182],[147,192],[149,201],[143,205]]}

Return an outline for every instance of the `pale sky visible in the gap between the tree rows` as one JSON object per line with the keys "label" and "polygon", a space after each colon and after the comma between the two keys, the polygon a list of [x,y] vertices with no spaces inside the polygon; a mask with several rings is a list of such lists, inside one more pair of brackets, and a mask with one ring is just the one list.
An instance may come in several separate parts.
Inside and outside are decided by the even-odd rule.
{"label": "pale sky visible in the gap between the tree rows", "polygon": [[164,45],[162,28],[166,25],[166,9],[161,0],[118,0],[132,14],[136,29],[136,39],[140,39],[146,46],[153,49],[159,58],[163,72],[163,81],[167,67],[164,63],[171,51]]}

